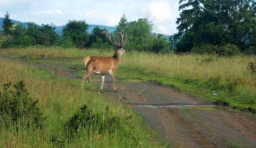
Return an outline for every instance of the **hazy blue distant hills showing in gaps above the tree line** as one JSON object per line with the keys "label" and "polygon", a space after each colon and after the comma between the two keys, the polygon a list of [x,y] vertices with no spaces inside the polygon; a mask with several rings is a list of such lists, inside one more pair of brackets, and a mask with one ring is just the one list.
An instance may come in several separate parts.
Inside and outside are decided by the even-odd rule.
{"label": "hazy blue distant hills showing in gaps above the tree line", "polygon": [[[4,19],[3,17],[0,17],[0,33],[1,33],[1,30],[2,30],[1,27],[3,26],[3,19]],[[17,21],[17,20],[12,20],[12,22],[14,22],[15,24],[22,24],[22,25],[25,26],[25,27],[27,26],[27,22],[19,22],[19,21]],[[113,33],[113,31],[116,31],[116,27],[89,24],[88,33],[92,33],[93,28],[94,28],[94,27],[97,27],[97,26],[98,26],[100,29],[104,29],[104,28],[108,29],[108,30],[109,30],[109,33]],[[61,31],[62,31],[63,27],[65,27],[65,25],[64,25],[64,26],[57,26],[56,29],[55,29],[56,33],[58,33],[59,35],[61,35]],[[164,35],[164,37],[169,38],[168,35]]]}

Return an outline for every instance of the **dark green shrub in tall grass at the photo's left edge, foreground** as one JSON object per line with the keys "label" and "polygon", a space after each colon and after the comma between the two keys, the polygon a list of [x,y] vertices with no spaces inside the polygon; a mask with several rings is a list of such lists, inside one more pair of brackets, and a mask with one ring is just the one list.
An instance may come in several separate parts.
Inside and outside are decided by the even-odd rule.
{"label": "dark green shrub in tall grass at the photo's left edge, foreground", "polygon": [[[33,101],[21,80],[14,84],[8,82],[3,85],[0,92],[0,118],[1,126],[17,126],[42,128],[45,117],[42,116],[40,108],[36,107],[38,100]],[[14,89],[14,90],[13,90]]]}

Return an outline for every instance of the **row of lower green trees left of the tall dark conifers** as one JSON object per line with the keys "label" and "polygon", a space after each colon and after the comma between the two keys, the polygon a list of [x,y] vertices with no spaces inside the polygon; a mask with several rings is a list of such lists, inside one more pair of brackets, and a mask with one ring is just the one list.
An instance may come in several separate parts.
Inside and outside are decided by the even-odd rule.
{"label": "row of lower green trees left of the tall dark conifers", "polygon": [[[7,12],[3,20],[4,34],[11,36],[1,41],[1,47],[63,47],[63,48],[113,48],[108,39],[102,34],[106,29],[94,27],[92,33],[88,33],[89,24],[85,20],[68,20],[59,36],[54,24],[42,24],[28,22],[27,26],[13,24],[10,14]],[[163,34],[152,34],[153,24],[147,20],[127,22],[122,15],[116,31],[111,34],[112,38],[118,38],[117,34],[124,31],[129,40],[128,50],[140,50],[147,52],[169,52],[170,42]]]}

